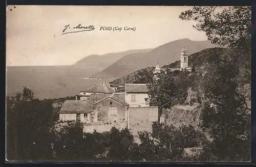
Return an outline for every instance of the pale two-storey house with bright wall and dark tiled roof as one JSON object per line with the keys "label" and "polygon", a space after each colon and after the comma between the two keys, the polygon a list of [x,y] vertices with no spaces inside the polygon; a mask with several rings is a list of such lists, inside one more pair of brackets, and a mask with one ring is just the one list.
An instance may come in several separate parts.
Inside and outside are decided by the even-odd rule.
{"label": "pale two-storey house with bright wall and dark tiled roof", "polygon": [[150,106],[145,98],[148,98],[147,84],[125,84],[125,102],[130,107]]}

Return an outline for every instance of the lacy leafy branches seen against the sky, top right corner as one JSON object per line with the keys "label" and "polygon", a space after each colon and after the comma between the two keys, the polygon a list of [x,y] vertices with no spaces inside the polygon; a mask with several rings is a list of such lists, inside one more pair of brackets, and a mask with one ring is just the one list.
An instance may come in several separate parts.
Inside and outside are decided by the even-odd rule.
{"label": "lacy leafy branches seen against the sky, top right corner", "polygon": [[247,42],[251,38],[251,7],[195,6],[179,17],[197,21],[194,27],[205,32],[212,43],[236,47],[241,37]]}

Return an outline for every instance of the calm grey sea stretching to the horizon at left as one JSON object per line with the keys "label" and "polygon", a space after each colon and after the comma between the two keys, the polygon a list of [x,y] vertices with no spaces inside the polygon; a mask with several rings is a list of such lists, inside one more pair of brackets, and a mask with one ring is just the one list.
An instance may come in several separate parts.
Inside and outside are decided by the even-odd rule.
{"label": "calm grey sea stretching to the horizon at left", "polygon": [[8,67],[6,72],[6,95],[13,96],[24,87],[31,89],[36,98],[55,99],[75,96],[101,81],[115,78],[90,78],[83,71],[64,67]]}

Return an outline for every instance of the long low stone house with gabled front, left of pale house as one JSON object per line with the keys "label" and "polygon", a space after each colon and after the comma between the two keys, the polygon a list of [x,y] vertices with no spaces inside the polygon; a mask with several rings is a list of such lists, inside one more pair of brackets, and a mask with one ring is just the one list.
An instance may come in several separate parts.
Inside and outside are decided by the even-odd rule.
{"label": "long low stone house with gabled front, left of pale house", "polygon": [[93,94],[84,100],[66,100],[59,110],[59,120],[83,123],[123,122],[127,120],[125,93]]}

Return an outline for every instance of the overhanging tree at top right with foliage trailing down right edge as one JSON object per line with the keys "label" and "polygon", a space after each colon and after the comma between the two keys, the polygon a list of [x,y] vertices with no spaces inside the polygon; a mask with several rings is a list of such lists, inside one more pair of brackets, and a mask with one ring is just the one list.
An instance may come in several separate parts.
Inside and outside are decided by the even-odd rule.
{"label": "overhanging tree at top right with foliage trailing down right edge", "polygon": [[203,7],[195,6],[182,12],[182,20],[194,20],[198,31],[206,33],[214,44],[232,49],[232,58],[246,69],[243,76],[251,76],[251,7]]}

